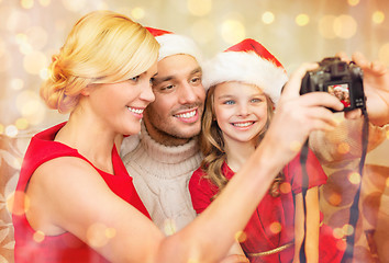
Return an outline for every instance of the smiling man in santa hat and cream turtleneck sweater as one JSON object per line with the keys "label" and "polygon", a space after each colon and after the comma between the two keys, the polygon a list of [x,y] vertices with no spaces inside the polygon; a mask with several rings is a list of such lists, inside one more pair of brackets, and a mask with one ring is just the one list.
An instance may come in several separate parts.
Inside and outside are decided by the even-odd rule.
{"label": "smiling man in santa hat and cream turtleneck sweater", "polygon": [[124,138],[122,159],[153,221],[169,235],[196,217],[188,182],[202,160],[197,135],[205,91],[193,41],[148,30],[160,44],[155,101],[144,112],[140,137]]}

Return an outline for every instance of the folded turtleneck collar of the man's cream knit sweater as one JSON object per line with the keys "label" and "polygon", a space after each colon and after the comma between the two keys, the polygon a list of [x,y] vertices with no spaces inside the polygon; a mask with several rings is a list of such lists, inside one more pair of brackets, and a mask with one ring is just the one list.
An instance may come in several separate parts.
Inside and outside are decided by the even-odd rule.
{"label": "folded turtleneck collar of the man's cream knit sweater", "polygon": [[143,122],[141,127],[141,144],[154,160],[164,163],[180,163],[199,153],[197,137],[182,146],[164,146],[149,136]]}

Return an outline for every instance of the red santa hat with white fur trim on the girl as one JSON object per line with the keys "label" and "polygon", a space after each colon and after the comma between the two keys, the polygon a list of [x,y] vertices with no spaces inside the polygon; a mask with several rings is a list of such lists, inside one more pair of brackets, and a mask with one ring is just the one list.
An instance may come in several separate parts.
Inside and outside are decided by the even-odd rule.
{"label": "red santa hat with white fur trim on the girl", "polygon": [[282,65],[258,42],[247,38],[219,53],[202,68],[205,89],[226,82],[255,84],[277,104],[288,76]]}

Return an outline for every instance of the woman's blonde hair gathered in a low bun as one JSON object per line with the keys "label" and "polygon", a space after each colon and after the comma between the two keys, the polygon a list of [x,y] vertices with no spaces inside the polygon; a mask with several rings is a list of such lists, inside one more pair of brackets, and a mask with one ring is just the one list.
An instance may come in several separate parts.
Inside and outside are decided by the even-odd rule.
{"label": "woman's blonde hair gathered in a low bun", "polygon": [[111,11],[88,13],[53,56],[41,96],[59,113],[73,111],[84,88],[141,75],[156,61],[158,49],[154,36],[127,16]]}

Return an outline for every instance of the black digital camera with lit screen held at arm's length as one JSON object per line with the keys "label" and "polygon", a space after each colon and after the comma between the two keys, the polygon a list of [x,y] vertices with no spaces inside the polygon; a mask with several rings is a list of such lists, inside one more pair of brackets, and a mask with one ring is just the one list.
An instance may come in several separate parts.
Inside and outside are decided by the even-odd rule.
{"label": "black digital camera with lit screen held at arm's length", "polygon": [[343,103],[343,111],[365,108],[364,76],[358,66],[342,61],[337,57],[324,58],[319,66],[318,69],[305,73],[300,94],[324,91]]}

